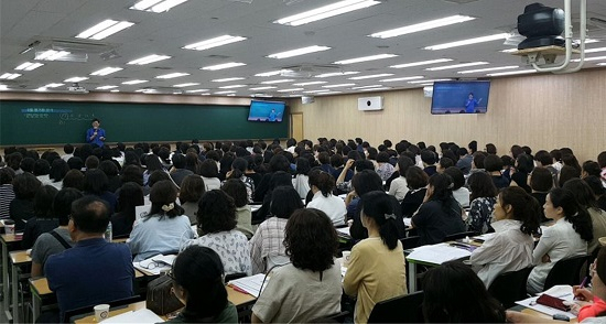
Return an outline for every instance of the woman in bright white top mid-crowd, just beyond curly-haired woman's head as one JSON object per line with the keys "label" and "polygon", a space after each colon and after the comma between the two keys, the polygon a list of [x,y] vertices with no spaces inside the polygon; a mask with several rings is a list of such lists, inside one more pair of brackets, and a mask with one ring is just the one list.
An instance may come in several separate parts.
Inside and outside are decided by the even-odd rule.
{"label": "woman in bright white top mid-crowd, just beyond curly-haired woman's head", "polygon": [[335,190],[333,175],[321,169],[313,169],[309,176],[314,196],[307,204],[307,208],[316,208],[326,213],[335,226],[345,225],[347,208],[342,198],[333,195],[333,190]]}

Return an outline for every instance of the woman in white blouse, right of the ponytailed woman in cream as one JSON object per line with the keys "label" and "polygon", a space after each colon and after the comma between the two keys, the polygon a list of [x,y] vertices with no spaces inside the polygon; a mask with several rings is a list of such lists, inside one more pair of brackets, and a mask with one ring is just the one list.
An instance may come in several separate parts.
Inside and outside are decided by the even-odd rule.
{"label": "woman in white blouse, right of the ponytailed woman in cream", "polygon": [[555,220],[555,224],[545,228],[532,252],[535,267],[528,277],[529,293],[543,291],[545,279],[555,262],[586,255],[587,242],[593,239],[592,218],[578,205],[572,192],[564,188],[550,191],[543,210],[545,217]]}

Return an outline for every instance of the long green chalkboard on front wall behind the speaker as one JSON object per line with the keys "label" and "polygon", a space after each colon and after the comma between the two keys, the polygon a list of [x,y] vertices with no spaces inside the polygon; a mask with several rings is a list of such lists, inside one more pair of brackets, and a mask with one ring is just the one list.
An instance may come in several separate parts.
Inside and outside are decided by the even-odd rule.
{"label": "long green chalkboard on front wall behind the speaker", "polygon": [[248,121],[248,106],[0,101],[0,145],[84,143],[90,120],[108,142],[288,137],[289,122]]}

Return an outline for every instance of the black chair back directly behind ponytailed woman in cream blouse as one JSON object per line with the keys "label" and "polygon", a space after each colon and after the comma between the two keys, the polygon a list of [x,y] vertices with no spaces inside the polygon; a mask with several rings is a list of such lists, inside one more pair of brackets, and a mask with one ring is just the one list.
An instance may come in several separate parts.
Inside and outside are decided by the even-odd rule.
{"label": "black chair back directly behind ponytailed woman in cream blouse", "polygon": [[488,293],[505,309],[512,307],[516,301],[526,299],[526,281],[532,267],[501,273],[488,288]]}

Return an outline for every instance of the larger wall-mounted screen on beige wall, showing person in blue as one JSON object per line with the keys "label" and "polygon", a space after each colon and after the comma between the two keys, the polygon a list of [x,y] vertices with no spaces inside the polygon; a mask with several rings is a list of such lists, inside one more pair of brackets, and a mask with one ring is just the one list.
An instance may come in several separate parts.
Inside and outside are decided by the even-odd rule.
{"label": "larger wall-mounted screen on beige wall, showing person in blue", "polygon": [[431,114],[486,114],[490,82],[440,82],[433,84]]}

